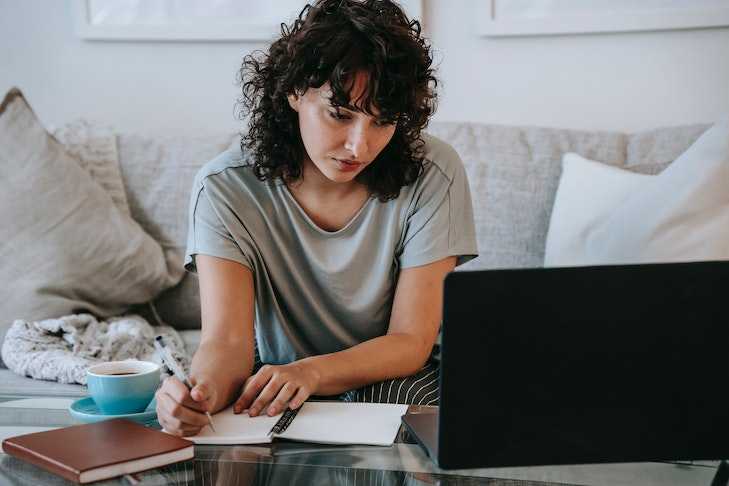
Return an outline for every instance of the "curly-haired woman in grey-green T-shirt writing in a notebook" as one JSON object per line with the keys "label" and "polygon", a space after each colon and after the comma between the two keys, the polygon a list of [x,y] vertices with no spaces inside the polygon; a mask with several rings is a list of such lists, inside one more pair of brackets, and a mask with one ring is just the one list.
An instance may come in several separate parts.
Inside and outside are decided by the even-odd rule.
{"label": "curly-haired woman in grey-green T-shirt writing in a notebook", "polygon": [[202,338],[194,388],[170,378],[157,393],[166,430],[195,434],[231,403],[255,416],[312,395],[438,402],[443,280],[476,241],[458,155],[421,133],[431,64],[389,0],[320,0],[245,57],[241,150],[193,186]]}

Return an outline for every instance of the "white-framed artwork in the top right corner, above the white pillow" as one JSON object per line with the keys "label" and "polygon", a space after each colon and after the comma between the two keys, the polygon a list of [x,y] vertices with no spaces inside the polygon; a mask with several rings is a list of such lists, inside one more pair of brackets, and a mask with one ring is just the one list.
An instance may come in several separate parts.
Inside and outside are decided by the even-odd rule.
{"label": "white-framed artwork in the top right corner, above the white pillow", "polygon": [[477,0],[489,37],[590,34],[729,25],[727,0]]}

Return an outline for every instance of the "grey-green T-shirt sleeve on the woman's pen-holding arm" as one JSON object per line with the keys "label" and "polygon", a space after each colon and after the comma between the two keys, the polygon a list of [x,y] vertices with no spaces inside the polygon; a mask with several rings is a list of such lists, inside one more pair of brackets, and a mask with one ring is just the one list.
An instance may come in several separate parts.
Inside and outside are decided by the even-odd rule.
{"label": "grey-green T-shirt sleeve on the woman's pen-holding arm", "polygon": [[[244,245],[248,246],[248,245]],[[196,184],[190,198],[185,269],[197,272],[196,255],[210,255],[238,262],[253,269],[249,255],[231,235],[202,184]]]}

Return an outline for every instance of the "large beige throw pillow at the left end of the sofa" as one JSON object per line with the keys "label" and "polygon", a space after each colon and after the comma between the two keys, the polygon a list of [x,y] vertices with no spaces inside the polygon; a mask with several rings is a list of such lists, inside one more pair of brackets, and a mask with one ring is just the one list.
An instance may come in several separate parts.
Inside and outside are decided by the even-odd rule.
{"label": "large beige throw pillow at the left end of the sofa", "polygon": [[181,279],[17,89],[0,104],[0,147],[0,338],[15,319],[119,315]]}

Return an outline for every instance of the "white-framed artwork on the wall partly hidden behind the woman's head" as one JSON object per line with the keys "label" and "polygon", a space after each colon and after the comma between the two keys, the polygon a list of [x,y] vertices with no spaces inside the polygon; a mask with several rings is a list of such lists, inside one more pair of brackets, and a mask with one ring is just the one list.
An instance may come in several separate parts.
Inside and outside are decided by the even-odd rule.
{"label": "white-framed artwork on the wall partly hidden behind the woman's head", "polygon": [[[76,34],[107,41],[266,41],[306,0],[72,0]],[[401,0],[411,18],[422,0]]]}

